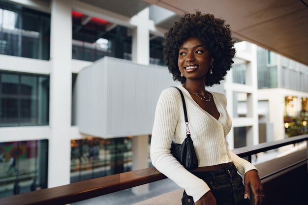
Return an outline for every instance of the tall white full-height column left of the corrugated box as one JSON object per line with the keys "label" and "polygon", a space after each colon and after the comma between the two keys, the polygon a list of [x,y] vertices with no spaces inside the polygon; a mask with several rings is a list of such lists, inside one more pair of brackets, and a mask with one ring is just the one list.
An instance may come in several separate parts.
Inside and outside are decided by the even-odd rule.
{"label": "tall white full-height column left of the corrugated box", "polygon": [[51,2],[48,187],[70,182],[72,0]]}

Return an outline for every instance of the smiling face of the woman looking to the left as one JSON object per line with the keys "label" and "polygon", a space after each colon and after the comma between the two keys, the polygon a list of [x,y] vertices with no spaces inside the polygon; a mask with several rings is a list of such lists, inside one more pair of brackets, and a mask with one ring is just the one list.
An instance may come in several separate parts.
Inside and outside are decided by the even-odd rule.
{"label": "smiling face of the woman looking to the left", "polygon": [[180,47],[178,66],[186,80],[200,79],[206,77],[213,60],[200,40],[190,37]]}

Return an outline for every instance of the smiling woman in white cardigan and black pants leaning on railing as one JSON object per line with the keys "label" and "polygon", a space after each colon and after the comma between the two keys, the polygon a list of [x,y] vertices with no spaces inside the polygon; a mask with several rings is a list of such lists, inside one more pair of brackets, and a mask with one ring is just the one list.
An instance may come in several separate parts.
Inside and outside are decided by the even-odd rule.
{"label": "smiling woman in white cardigan and black pants leaning on railing", "polygon": [[[185,96],[191,138],[198,169],[189,172],[173,157],[172,140],[182,143],[185,135],[183,105],[179,91],[162,91],[156,107],[151,159],[158,171],[185,189],[182,204],[243,205],[249,188],[255,205],[261,205],[263,190],[256,168],[229,148],[226,135],[231,118],[223,94],[206,86],[220,84],[235,55],[229,25],[210,14],[185,14],[165,34],[164,57],[173,79]],[[245,175],[245,189],[242,177]]]}

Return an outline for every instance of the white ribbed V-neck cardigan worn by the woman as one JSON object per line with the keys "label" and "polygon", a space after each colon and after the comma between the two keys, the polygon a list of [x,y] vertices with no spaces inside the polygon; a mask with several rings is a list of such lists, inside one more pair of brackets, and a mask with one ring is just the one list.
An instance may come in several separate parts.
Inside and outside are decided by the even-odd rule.
{"label": "white ribbed V-neck cardigan worn by the woman", "polygon": [[[223,94],[211,92],[220,113],[218,120],[204,111],[182,86],[191,139],[198,157],[198,167],[233,162],[241,175],[256,169],[248,161],[234,154],[226,142],[231,129],[231,118],[226,110],[226,98]],[[154,167],[169,177],[187,195],[198,201],[209,186],[197,176],[188,172],[171,154],[171,142],[182,143],[186,137],[183,104],[180,92],[176,88],[163,90],[157,102],[151,140],[151,159]]]}

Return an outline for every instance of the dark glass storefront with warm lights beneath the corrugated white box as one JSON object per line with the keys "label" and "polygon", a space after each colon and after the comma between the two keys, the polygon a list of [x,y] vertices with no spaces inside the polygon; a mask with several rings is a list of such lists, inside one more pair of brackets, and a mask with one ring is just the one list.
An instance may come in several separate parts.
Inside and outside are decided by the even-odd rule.
{"label": "dark glass storefront with warm lights beneath the corrugated white box", "polygon": [[71,141],[71,182],[131,171],[131,137]]}

